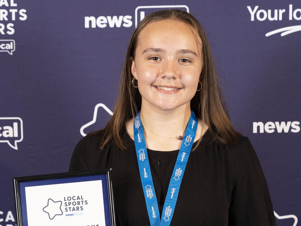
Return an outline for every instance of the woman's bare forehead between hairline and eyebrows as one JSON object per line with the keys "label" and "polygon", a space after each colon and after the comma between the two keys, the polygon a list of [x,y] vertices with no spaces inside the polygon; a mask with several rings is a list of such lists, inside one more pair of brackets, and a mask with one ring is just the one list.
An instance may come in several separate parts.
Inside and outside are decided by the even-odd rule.
{"label": "woman's bare forehead between hairline and eyebrows", "polygon": [[147,24],[138,36],[137,49],[192,49],[201,52],[199,35],[180,20],[160,20]]}

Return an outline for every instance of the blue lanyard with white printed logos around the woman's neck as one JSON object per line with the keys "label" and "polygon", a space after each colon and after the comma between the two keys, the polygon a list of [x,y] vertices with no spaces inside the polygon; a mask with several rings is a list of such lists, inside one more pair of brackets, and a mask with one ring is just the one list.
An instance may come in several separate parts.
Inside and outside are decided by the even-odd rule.
{"label": "blue lanyard with white printed logos around the woman's neck", "polygon": [[147,149],[144,140],[142,122],[140,120],[140,111],[134,118],[134,140],[138,159],[139,172],[141,177],[142,189],[147,207],[148,217],[151,226],[169,226],[172,215],[175,210],[175,204],[178,199],[178,193],[182,182],[183,174],[186,168],[187,160],[191,151],[194,137],[197,131],[197,117],[191,110],[190,119],[185,131],[177,161],[170,178],[167,195],[164,202],[162,217],[160,221],[160,213],[157,203],[157,197],[154,189],[153,178],[151,176],[151,168],[148,162]]}

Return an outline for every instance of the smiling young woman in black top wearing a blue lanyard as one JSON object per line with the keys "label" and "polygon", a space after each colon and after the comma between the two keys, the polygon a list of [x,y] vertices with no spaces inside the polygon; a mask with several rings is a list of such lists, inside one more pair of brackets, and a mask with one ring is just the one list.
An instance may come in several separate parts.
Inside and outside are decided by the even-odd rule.
{"label": "smiling young woman in black top wearing a blue lanyard", "polygon": [[69,171],[102,168],[112,168],[117,225],[275,225],[206,34],[184,11],[149,14],[132,34],[113,117],[79,141]]}

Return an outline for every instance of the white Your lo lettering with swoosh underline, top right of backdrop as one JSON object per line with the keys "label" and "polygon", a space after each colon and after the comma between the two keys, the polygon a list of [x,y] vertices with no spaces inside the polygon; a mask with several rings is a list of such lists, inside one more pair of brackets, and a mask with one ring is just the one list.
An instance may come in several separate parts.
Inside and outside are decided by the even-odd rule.
{"label": "white Your lo lettering with swoosh underline, top right of backdrop", "polygon": [[[284,9],[262,9],[258,5],[251,7],[247,6],[250,13],[251,21],[281,21],[281,20],[301,20],[301,9],[289,4]],[[265,34],[266,37],[281,33],[281,36],[285,36],[297,31],[301,31],[301,25],[282,27],[276,30],[272,30]]]}

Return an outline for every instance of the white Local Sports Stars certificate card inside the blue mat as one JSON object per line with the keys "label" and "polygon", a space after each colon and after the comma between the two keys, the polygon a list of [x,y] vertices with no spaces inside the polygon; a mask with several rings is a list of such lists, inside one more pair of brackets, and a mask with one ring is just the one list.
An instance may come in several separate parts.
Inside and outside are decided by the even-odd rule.
{"label": "white Local Sports Stars certificate card inside the blue mat", "polygon": [[105,225],[101,180],[25,187],[30,226]]}

